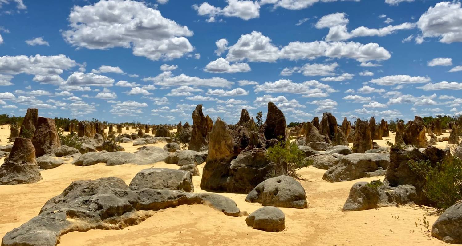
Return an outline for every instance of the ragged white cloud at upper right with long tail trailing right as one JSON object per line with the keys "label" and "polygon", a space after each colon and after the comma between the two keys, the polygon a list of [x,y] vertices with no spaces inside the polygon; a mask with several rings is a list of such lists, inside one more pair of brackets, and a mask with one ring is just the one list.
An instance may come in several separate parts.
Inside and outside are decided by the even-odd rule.
{"label": "ragged white cloud at upper right with long tail trailing right", "polygon": [[[389,24],[391,21],[392,20],[388,18],[385,23]],[[396,30],[407,30],[415,27],[415,24],[406,22],[395,26],[389,25],[380,29],[360,26],[348,32],[346,27],[348,22],[349,20],[346,18],[345,13],[334,13],[320,18],[315,27],[318,29],[329,28],[329,33],[325,38],[326,41],[341,41],[361,36],[387,36],[394,33]]]}

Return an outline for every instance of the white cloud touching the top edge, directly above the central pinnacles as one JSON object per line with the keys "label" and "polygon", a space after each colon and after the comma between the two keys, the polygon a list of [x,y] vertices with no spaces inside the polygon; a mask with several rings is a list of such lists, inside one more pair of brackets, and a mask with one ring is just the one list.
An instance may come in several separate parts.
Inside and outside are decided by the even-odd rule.
{"label": "white cloud touching the top edge, directly above the central pinnacles", "polygon": [[239,17],[244,20],[258,18],[260,16],[260,5],[257,1],[251,0],[226,0],[228,3],[224,8],[210,5],[207,2],[201,5],[193,5],[198,15],[208,16],[207,22],[214,22],[215,16]]}

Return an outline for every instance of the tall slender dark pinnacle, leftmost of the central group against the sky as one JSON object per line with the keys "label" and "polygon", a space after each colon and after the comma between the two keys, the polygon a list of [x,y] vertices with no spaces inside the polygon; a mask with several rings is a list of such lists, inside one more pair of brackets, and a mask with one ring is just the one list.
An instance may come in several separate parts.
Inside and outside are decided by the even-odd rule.
{"label": "tall slender dark pinnacle, leftmost of the central group against the sky", "polygon": [[210,126],[211,120],[209,121],[209,119],[204,117],[202,113],[202,104],[197,105],[193,112],[193,131],[191,132],[188,150],[207,150],[207,135],[212,130],[212,126]]}

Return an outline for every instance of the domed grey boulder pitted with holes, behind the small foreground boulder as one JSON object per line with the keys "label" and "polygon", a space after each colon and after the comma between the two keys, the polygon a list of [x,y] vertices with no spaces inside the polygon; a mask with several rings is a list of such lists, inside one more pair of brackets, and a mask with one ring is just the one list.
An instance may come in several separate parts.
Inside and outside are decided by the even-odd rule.
{"label": "domed grey boulder pitted with holes, behind the small foreground boulder", "polygon": [[303,209],[308,207],[305,189],[289,176],[278,176],[258,184],[245,198],[263,206]]}

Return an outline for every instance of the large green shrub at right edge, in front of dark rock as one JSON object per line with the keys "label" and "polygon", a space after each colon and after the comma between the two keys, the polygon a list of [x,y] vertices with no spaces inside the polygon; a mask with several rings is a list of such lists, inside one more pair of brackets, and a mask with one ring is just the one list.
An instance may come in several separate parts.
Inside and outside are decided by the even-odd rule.
{"label": "large green shrub at right edge, in front of dark rock", "polygon": [[429,161],[410,162],[409,167],[426,180],[424,192],[438,210],[462,201],[462,161],[456,156],[432,165]]}

